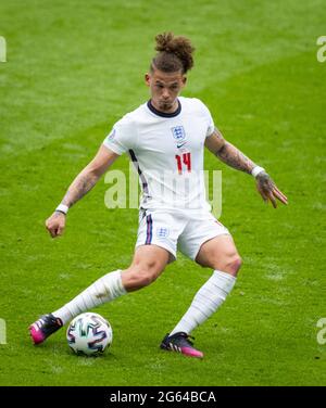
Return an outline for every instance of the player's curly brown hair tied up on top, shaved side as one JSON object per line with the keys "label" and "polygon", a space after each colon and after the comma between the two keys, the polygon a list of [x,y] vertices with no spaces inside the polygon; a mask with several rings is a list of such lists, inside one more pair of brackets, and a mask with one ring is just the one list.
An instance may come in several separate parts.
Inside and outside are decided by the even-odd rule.
{"label": "player's curly brown hair tied up on top, shaved side", "polygon": [[155,37],[159,51],[151,63],[151,71],[160,69],[164,73],[181,71],[186,74],[193,66],[192,53],[195,48],[188,38],[175,37],[173,33],[159,34]]}

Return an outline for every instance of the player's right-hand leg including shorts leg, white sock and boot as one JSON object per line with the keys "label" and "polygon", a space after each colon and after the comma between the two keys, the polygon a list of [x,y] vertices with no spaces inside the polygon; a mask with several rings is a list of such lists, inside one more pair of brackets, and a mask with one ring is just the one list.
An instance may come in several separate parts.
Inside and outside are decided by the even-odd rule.
{"label": "player's right-hand leg including shorts leg, white sock and boot", "polygon": [[193,347],[189,334],[225,301],[235,284],[241,260],[228,230],[205,212],[189,215],[178,243],[185,255],[204,267],[211,267],[214,272],[197,292],[181,320],[163,339],[161,348],[201,358],[203,353]]}

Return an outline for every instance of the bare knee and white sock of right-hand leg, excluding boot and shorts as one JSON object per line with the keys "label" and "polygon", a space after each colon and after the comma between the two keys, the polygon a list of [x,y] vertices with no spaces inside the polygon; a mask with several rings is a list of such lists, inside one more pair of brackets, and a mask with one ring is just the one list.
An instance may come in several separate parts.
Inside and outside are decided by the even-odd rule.
{"label": "bare knee and white sock of right-hand leg, excluding boot and shorts", "polygon": [[204,242],[196,256],[196,262],[203,267],[212,268],[213,275],[197,292],[189,309],[171,335],[178,332],[189,334],[212,316],[233,290],[241,266],[234,240],[228,234]]}

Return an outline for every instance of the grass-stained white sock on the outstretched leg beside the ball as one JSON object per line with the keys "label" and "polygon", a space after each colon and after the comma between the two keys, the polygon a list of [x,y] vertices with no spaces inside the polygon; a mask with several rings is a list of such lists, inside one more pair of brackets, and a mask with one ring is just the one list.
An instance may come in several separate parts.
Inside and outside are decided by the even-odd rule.
{"label": "grass-stained white sock on the outstretched leg beside the ball", "polygon": [[115,270],[98,279],[71,302],[53,311],[52,315],[59,317],[63,324],[65,324],[83,311],[111,302],[125,293],[126,290],[122,284],[121,270]]}

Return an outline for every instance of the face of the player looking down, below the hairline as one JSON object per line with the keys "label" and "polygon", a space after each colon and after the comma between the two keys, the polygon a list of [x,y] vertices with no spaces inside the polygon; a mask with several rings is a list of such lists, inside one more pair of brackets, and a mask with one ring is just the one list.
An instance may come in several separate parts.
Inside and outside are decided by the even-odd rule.
{"label": "face of the player looking down, below the hairline", "polygon": [[180,71],[163,73],[154,69],[146,74],[145,80],[150,88],[151,102],[158,111],[172,113],[177,110],[177,98],[187,80]]}

